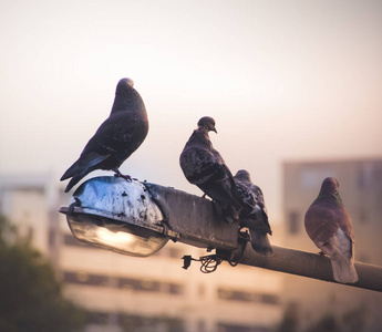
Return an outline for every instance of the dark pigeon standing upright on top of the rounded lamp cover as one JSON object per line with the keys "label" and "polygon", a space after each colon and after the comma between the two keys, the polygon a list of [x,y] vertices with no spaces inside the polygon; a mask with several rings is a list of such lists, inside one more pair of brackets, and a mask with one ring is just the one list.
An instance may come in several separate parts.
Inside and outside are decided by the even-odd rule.
{"label": "dark pigeon standing upright on top of the rounded lamp cover", "polygon": [[144,102],[133,86],[131,79],[122,79],[116,85],[110,116],[87,142],[80,158],[61,177],[61,180],[72,178],[65,193],[94,169],[114,170],[116,176],[131,180],[118,168],[140,147],[148,132]]}

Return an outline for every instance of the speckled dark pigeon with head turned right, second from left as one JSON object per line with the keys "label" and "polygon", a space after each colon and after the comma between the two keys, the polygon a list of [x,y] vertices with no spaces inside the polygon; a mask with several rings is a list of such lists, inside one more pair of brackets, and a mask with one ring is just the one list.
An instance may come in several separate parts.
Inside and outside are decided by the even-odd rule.
{"label": "speckled dark pigeon with head turned right, second from left", "polygon": [[208,132],[217,133],[215,120],[204,116],[197,125],[180,154],[180,168],[190,184],[217,204],[217,212],[234,222],[239,218],[242,200],[230,170],[209,139]]}

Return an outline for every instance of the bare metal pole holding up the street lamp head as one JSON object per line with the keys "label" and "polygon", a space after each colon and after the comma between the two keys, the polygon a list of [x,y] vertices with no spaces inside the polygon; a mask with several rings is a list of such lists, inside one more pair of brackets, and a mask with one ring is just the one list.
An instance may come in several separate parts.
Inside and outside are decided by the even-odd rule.
{"label": "bare metal pole holding up the street lamp head", "polygon": [[[244,252],[236,250],[230,260],[247,266],[337,283],[333,279],[331,262],[328,257],[277,246],[272,246],[272,249],[273,256],[265,257],[256,253],[247,243]],[[355,262],[355,269],[359,281],[345,283],[345,286],[382,292],[382,267]]]}

